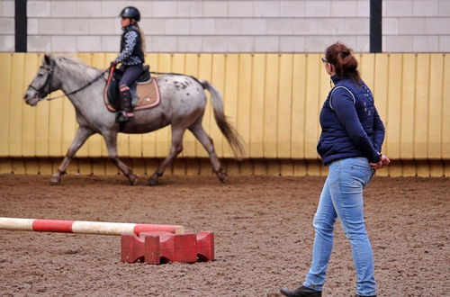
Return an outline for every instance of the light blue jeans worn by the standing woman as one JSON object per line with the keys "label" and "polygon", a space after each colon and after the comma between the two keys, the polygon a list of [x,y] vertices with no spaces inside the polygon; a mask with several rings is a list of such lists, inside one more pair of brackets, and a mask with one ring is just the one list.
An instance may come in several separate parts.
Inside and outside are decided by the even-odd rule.
{"label": "light blue jeans worn by the standing woman", "polygon": [[352,247],[356,266],[356,293],[375,295],[374,256],[365,231],[363,189],[374,169],[365,157],[349,157],[331,163],[329,176],[320,194],[314,216],[314,245],[312,264],[303,285],[322,290],[325,283],[329,257],[333,249],[333,230],[337,218],[341,221]]}

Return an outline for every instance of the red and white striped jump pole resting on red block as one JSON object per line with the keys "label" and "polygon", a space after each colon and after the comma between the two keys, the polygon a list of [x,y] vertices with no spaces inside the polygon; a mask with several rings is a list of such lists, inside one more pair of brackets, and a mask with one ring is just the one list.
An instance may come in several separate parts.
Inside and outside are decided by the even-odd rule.
{"label": "red and white striped jump pole resting on red block", "polygon": [[12,231],[62,232],[99,235],[136,234],[140,232],[166,231],[184,234],[179,225],[132,224],[85,220],[40,220],[0,218],[0,229]]}

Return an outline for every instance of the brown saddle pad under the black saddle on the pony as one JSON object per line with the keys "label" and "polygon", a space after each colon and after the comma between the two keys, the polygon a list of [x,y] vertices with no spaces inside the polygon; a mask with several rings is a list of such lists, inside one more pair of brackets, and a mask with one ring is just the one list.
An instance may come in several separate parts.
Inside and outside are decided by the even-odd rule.
{"label": "brown saddle pad under the black saddle on the pony", "polygon": [[[105,87],[105,90],[106,89],[107,86]],[[138,102],[134,105],[135,111],[155,107],[161,101],[157,80],[153,77],[147,82],[138,83],[136,93],[138,95]],[[108,92],[103,92],[103,99],[106,107],[110,112],[117,112],[117,109],[108,99]]]}

